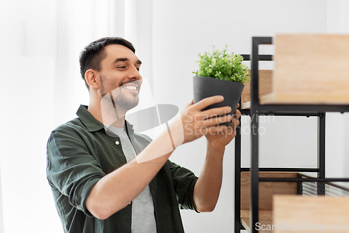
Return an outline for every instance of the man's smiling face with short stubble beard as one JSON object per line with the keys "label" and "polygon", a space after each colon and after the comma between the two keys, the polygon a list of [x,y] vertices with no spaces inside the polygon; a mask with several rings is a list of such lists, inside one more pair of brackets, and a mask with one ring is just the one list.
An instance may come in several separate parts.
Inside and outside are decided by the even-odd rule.
{"label": "man's smiling face with short stubble beard", "polygon": [[138,94],[142,84],[139,70],[140,59],[123,45],[107,45],[106,57],[101,62],[101,97],[110,94],[113,105],[129,110],[138,104]]}

